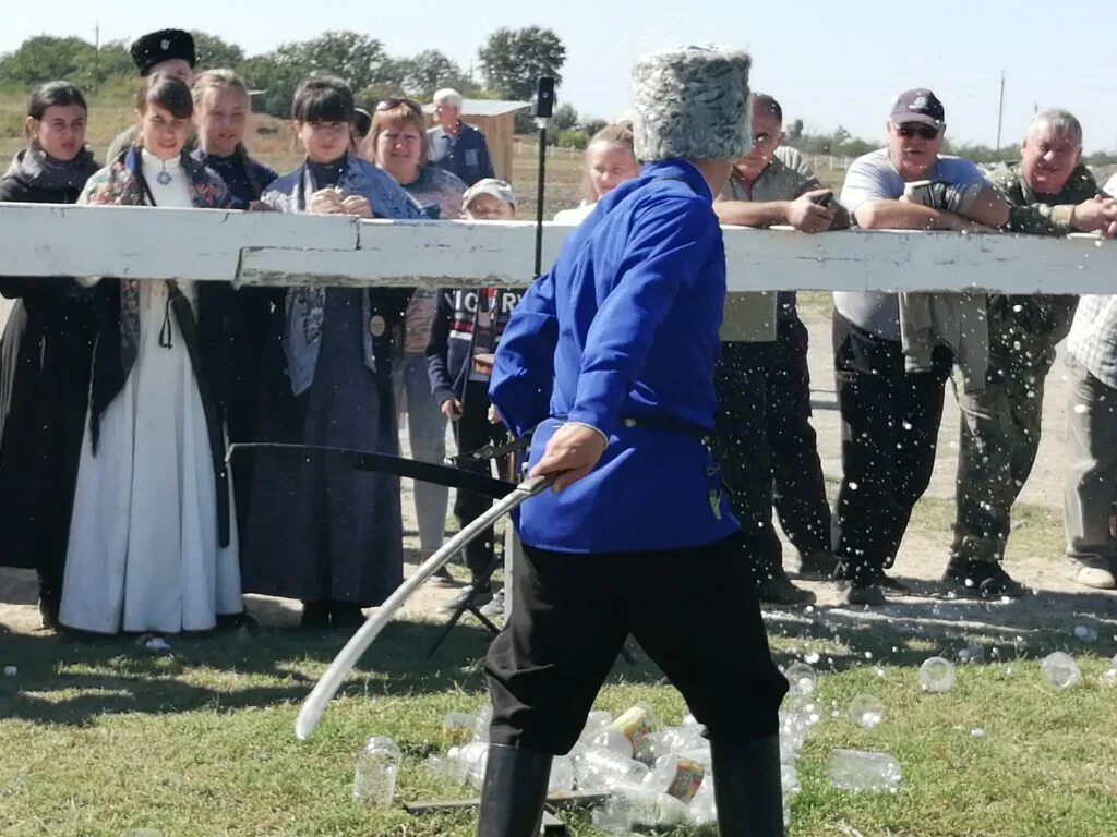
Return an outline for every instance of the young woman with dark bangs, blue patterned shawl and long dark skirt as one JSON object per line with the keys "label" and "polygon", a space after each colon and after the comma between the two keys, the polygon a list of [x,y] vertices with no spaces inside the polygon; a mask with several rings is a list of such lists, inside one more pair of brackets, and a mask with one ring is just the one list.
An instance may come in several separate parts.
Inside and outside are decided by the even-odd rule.
{"label": "young woman with dark bangs, blue patterned shawl and long dark skirt", "polygon": [[[353,93],[304,81],[292,107],[306,160],[265,191],[281,212],[419,217],[389,175],[350,153]],[[399,451],[392,394],[399,289],[292,288],[265,360],[265,437],[318,448]],[[274,359],[273,359],[274,358]],[[303,625],[352,627],[402,580],[399,478],[356,471],[323,451],[261,453],[249,504],[245,590],[303,600]]]}

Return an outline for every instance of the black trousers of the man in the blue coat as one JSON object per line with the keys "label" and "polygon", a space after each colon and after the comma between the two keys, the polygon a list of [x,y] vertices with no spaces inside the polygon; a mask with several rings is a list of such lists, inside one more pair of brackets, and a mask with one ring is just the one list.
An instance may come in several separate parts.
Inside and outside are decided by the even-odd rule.
{"label": "black trousers of the man in the blue coat", "polygon": [[493,743],[569,752],[629,634],[710,739],[776,734],[787,683],[737,536],[662,551],[524,551],[486,663]]}

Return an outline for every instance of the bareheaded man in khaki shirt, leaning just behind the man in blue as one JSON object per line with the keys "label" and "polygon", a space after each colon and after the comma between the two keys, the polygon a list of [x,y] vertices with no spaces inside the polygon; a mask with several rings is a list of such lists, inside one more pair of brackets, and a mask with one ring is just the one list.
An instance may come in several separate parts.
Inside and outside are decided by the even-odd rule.
{"label": "bareheaded man in khaki shirt, leaning just behind the man in blue", "polygon": [[[849,227],[849,213],[832,201],[803,156],[782,145],[783,108],[754,94],[752,148],[734,165],[714,204],[722,223],[742,227],[787,224],[802,232]],[[775,340],[757,340],[753,316],[726,302],[722,357],[717,366],[718,460],[733,489],[734,512],[745,521],[757,570],[761,600],[804,604],[813,597],[791,584],[783,569],[780,523],[799,551],[800,571],[829,576],[830,507],[811,426],[811,381],[806,327],[795,291],[777,299]],[[739,321],[738,321],[739,320]],[[761,440],[764,443],[757,443]]]}

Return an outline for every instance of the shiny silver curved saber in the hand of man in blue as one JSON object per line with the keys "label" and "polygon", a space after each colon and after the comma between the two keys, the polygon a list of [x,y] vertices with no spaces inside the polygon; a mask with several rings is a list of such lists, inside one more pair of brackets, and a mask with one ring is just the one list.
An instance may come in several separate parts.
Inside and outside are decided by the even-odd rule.
{"label": "shiny silver curved saber in the hand of man in blue", "polygon": [[384,626],[392,620],[392,617],[403,604],[411,598],[411,595],[427,579],[441,569],[466,543],[479,537],[493,523],[509,513],[524,502],[524,500],[546,489],[554,482],[555,477],[556,474],[534,477],[516,485],[510,494],[498,500],[491,509],[443,543],[442,548],[423,561],[414,575],[400,585],[395,593],[389,596],[388,600],[376,608],[374,614],[370,614],[364,625],[345,643],[345,647],[334,657],[334,662],[330,664],[330,667],[326,668],[317,684],[315,684],[314,691],[303,702],[303,708],[298,711],[298,716],[295,719],[295,738],[299,741],[305,741],[314,732],[314,728],[326,711],[326,704],[330,703],[330,700],[341,689],[342,683],[349,676],[349,673],[353,671],[361,655],[372,645],[372,642],[384,629]]}

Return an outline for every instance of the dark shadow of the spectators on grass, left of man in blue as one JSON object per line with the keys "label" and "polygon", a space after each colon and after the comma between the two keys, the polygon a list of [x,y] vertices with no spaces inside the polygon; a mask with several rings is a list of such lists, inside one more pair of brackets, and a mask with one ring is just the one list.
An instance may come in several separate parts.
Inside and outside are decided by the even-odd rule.
{"label": "dark shadow of the spectators on grass, left of man in blue", "polygon": [[[400,698],[485,689],[491,635],[459,624],[432,655],[441,625],[397,622],[366,652],[340,695]],[[264,709],[300,702],[350,634],[259,628],[180,635],[153,654],[135,636],[10,633],[0,625],[0,720],[83,725],[104,714]],[[611,682],[656,683],[651,664],[618,663]]]}

